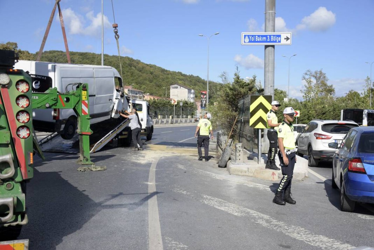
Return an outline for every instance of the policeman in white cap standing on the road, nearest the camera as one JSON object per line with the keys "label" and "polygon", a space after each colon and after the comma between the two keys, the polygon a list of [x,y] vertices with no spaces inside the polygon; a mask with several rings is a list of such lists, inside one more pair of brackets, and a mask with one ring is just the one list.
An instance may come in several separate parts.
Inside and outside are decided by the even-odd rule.
{"label": "policeman in white cap standing on the road, nearest the camera", "polygon": [[[286,202],[296,204],[296,201],[291,198],[291,182],[296,163],[294,126],[291,124],[294,121],[294,115],[295,111],[292,107],[285,108],[283,110],[284,120],[278,126],[278,157],[281,162],[280,167],[282,168],[283,177],[281,182],[279,182],[273,202],[279,205],[286,205]],[[284,199],[282,198],[283,191]]]}

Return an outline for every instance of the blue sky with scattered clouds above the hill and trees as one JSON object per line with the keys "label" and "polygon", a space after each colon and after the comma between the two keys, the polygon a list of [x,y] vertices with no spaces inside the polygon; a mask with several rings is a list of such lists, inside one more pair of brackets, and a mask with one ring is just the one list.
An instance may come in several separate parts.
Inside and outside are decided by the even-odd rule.
{"label": "blue sky with scattered clouds above the hill and trees", "polygon": [[[265,0],[103,2],[104,54],[118,55],[115,20],[121,56],[207,79],[209,44],[210,81],[221,82],[223,72],[232,79],[238,67],[242,78],[256,75],[264,85],[264,46],[241,45],[241,33],[264,32]],[[39,51],[54,4],[0,0],[0,43]],[[100,54],[101,0],[61,0],[60,5],[69,50]],[[289,80],[290,97],[302,100],[303,73],[322,69],[336,96],[363,92],[374,61],[373,0],[276,0],[275,9],[275,31],[292,33],[291,45],[275,46],[275,88],[287,91]],[[44,50],[65,51],[58,11]]]}

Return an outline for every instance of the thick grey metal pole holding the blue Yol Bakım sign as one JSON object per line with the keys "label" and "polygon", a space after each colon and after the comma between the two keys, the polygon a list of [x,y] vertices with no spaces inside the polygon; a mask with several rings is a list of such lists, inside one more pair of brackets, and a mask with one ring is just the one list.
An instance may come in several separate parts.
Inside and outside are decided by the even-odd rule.
{"label": "thick grey metal pole holding the blue Yol Bak\u0131m sign", "polygon": [[[265,32],[275,32],[275,0],[265,0]],[[264,91],[274,100],[274,45],[265,45]]]}

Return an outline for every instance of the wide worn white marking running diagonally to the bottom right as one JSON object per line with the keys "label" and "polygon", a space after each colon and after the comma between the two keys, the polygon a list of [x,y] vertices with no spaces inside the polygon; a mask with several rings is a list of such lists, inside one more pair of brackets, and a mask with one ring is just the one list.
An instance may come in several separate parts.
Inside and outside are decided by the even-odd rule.
{"label": "wide worn white marking running diagonally to the bottom right", "polygon": [[279,220],[275,220],[266,214],[262,214],[249,208],[232,204],[222,199],[199,193],[191,194],[181,188],[174,189],[173,191],[191,196],[202,203],[205,203],[227,213],[241,217],[249,217],[249,219],[254,223],[260,224],[266,228],[278,232],[282,232],[289,237],[303,241],[311,246],[320,247],[324,250],[349,250],[355,248],[354,246],[351,246],[349,244],[342,243],[323,235],[313,234],[307,229],[301,228],[299,226],[289,225]]}

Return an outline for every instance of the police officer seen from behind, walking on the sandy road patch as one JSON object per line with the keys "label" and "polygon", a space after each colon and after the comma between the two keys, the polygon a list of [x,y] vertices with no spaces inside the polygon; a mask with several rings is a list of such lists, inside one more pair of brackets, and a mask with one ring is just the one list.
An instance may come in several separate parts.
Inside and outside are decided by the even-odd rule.
{"label": "police officer seen from behind, walking on the sandy road patch", "polygon": [[[209,119],[212,118],[210,113],[205,113],[204,118],[200,119],[199,124],[196,126],[195,137],[197,137],[197,153],[199,154],[199,161],[203,160],[201,146],[204,146],[205,161],[209,161],[209,133],[213,140],[212,123]],[[199,132],[199,135],[198,135]]]}

